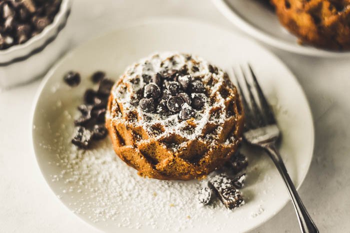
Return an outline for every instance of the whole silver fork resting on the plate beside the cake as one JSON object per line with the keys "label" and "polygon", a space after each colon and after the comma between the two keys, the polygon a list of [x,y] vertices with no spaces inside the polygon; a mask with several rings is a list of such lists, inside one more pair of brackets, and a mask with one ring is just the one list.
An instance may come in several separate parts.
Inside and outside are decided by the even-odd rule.
{"label": "whole silver fork resting on the plate beside the cake", "polygon": [[[249,144],[264,149],[272,159],[288,190],[297,215],[301,232],[318,233],[315,224],[307,213],[292,181],[290,180],[282,158],[280,157],[276,148],[276,142],[280,137],[280,131],[273,112],[262,93],[261,87],[258,84],[256,76],[250,65],[248,65],[248,69],[252,82],[249,82],[242,67],[240,67],[240,71],[244,81],[239,80],[237,73],[233,69],[245,113],[245,129],[243,138]],[[245,86],[246,94],[244,94],[242,86]]]}

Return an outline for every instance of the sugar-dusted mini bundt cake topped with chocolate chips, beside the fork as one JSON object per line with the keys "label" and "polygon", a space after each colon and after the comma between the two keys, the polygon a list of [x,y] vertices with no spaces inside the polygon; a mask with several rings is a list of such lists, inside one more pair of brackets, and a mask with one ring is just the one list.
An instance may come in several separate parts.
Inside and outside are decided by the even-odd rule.
{"label": "sugar-dusted mini bundt cake topped with chocolate chips, beside the fork", "polygon": [[109,96],[106,127],[115,153],[142,176],[201,178],[234,155],[243,113],[226,73],[182,53],[128,67]]}

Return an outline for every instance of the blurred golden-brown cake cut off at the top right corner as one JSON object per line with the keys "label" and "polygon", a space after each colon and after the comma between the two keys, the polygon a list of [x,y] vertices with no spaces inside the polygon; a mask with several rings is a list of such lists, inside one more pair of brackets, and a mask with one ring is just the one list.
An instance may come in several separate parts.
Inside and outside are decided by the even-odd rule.
{"label": "blurred golden-brown cake cut off at the top right corner", "polygon": [[350,49],[350,0],[270,0],[280,22],[301,43]]}

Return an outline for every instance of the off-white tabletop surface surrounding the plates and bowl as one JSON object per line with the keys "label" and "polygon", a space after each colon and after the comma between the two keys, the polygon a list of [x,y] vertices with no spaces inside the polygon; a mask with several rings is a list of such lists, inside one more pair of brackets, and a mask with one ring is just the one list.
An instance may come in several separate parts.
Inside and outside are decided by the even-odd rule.
{"label": "off-white tabletop surface surrounding the plates and bowl", "polygon": [[[66,27],[73,47],[150,16],[192,17],[239,33],[210,0],[74,0]],[[350,59],[302,57],[269,49],[296,75],[313,113],[314,157],[299,194],[320,232],[349,232]],[[29,122],[39,82],[0,92],[0,232],[94,232],[58,201],[36,165]],[[298,232],[292,205],[253,232]]]}

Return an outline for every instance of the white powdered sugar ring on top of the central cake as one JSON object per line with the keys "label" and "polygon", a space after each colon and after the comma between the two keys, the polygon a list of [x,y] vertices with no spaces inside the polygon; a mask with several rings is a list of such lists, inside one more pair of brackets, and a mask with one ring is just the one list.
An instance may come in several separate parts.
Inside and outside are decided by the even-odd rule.
{"label": "white powdered sugar ring on top of the central cake", "polygon": [[[156,113],[145,113],[139,106],[130,104],[130,102],[132,102],[132,95],[137,93],[137,91],[142,89],[146,84],[144,81],[145,75],[155,76],[156,73],[162,72],[164,69],[181,69],[184,65],[187,66],[188,72],[192,77],[200,77],[203,83],[207,83],[209,79],[215,80],[212,86],[206,85],[206,89],[209,90],[209,96],[215,98],[215,101],[209,103],[210,98],[208,98],[202,108],[203,110],[195,111],[195,128],[190,133],[184,130],[188,126],[188,123],[186,121],[180,121],[176,115],[163,116]],[[226,119],[224,98],[220,94],[217,94],[219,88],[223,85],[225,73],[220,69],[217,69],[217,72],[214,73],[210,72],[208,69],[209,66],[210,64],[207,61],[189,54],[170,52],[154,54],[126,68],[124,75],[121,77],[123,82],[116,84],[112,90],[112,94],[114,98],[117,99],[119,105],[122,105],[123,112],[136,111],[137,114],[141,116],[137,124],[141,125],[144,130],[147,131],[154,124],[160,124],[164,127],[164,132],[157,135],[156,139],[164,138],[171,134],[177,134],[187,140],[194,140],[202,135],[202,130],[209,121],[217,125],[223,124]],[[187,105],[182,105],[182,108],[186,106]],[[219,108],[222,109],[222,111],[220,111],[218,117],[210,119],[210,111],[213,108]],[[117,120],[120,119],[121,116],[111,116],[107,113],[106,117],[114,117],[115,120]],[[217,130],[219,129],[220,128]],[[211,134],[212,135],[207,136],[214,138],[217,132],[212,132]]]}

